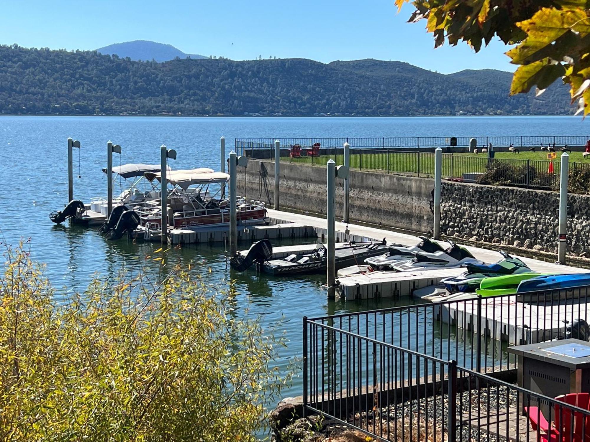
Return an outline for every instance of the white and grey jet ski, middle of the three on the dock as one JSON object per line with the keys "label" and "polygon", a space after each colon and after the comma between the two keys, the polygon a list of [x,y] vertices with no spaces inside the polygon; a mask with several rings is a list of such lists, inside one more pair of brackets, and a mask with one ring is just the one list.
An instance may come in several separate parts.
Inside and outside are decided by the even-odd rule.
{"label": "white and grey jet ski, middle of the three on the dock", "polygon": [[477,260],[463,247],[450,242],[447,250],[434,253],[415,253],[414,258],[394,262],[390,268],[396,272],[415,272],[428,269],[452,269],[473,263],[484,265],[483,261]]}

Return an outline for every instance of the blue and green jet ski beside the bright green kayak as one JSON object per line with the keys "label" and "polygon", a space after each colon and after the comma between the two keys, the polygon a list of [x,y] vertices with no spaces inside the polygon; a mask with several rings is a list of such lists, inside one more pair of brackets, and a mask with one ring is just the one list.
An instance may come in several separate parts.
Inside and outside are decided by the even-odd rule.
{"label": "blue and green jet ski beside the bright green kayak", "polygon": [[518,258],[513,258],[506,252],[500,252],[503,259],[494,264],[478,264],[468,262],[466,271],[459,276],[441,279],[441,283],[450,293],[475,292],[480,288],[484,278],[490,276],[513,275],[516,273],[530,273],[527,265]]}

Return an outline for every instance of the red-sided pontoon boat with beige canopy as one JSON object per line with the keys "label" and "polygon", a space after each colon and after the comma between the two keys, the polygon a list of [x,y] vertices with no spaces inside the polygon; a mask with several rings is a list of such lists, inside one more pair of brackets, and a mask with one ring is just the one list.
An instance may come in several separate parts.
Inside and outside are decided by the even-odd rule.
{"label": "red-sided pontoon boat with beige canopy", "polygon": [[[146,172],[151,183],[160,182],[160,172]],[[166,174],[168,192],[168,225],[172,229],[196,230],[201,227],[219,227],[230,224],[230,200],[224,198],[224,185],[230,180],[227,173],[198,169],[173,170]],[[160,230],[162,210],[160,200],[148,201],[133,207],[140,219],[140,227],[152,232]],[[237,197],[238,225],[256,225],[266,222],[263,202]]]}

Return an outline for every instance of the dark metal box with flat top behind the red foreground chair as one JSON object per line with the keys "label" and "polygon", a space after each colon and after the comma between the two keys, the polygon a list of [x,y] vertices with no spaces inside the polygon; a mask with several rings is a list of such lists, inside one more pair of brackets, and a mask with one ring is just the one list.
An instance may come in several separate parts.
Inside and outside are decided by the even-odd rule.
{"label": "dark metal box with flat top behind the red foreground chair", "polygon": [[[518,384],[527,390],[551,398],[562,394],[590,392],[590,342],[579,339],[540,342],[539,344],[509,347],[516,355]],[[519,395],[519,412],[524,407],[539,405],[543,414],[549,414],[549,405],[529,403]]]}

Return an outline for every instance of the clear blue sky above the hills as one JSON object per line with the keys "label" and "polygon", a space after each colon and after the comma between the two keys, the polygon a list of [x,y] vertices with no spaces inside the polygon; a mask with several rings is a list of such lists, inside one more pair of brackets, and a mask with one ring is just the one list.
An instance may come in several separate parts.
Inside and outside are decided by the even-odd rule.
{"label": "clear blue sky above the hills", "polygon": [[425,22],[393,0],[4,0],[0,44],[93,50],[146,39],[188,54],[233,60],[311,58],[406,61],[443,73],[514,70],[500,41],[475,54],[467,44],[434,50]]}

